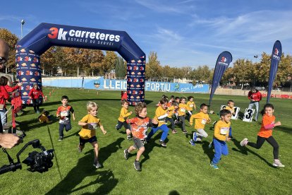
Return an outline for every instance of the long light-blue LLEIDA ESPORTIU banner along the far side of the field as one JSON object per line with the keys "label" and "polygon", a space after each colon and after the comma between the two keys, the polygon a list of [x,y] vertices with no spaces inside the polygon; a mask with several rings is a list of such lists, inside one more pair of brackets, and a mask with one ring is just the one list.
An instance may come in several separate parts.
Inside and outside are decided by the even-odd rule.
{"label": "long light-blue LLEIDA ESPORTIU banner along the far side of the field", "polygon": [[[60,88],[81,88],[83,78],[73,79],[49,79],[43,78],[42,85],[53,86]],[[127,90],[126,80],[115,80],[115,79],[92,79],[84,78],[83,88],[85,89],[97,89],[97,90]],[[164,82],[145,82],[144,86],[147,91],[166,91],[166,92],[178,92],[178,93],[208,93],[209,85],[199,84],[193,85],[191,83],[164,83]],[[128,95],[140,95],[140,98],[144,96],[144,91],[139,89],[133,89],[127,91]],[[129,97],[130,98],[130,97]]]}

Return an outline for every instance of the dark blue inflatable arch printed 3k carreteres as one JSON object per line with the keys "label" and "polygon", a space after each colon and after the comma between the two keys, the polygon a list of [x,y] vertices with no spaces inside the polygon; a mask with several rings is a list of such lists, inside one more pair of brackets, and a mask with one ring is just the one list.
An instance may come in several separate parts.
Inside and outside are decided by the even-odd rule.
{"label": "dark blue inflatable arch printed 3k carreteres", "polygon": [[[145,53],[127,32],[41,23],[16,46],[17,79],[23,82],[23,104],[30,104],[28,93],[34,83],[42,88],[40,56],[51,46],[116,51],[127,61],[127,93],[130,105],[145,99]],[[102,85],[103,83],[101,83]],[[94,83],[92,83],[94,85]]]}

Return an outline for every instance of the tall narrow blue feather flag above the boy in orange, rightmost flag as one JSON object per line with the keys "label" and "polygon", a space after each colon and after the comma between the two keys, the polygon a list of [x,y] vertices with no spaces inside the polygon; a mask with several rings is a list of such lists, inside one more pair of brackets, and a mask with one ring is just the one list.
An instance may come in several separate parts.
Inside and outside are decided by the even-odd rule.
{"label": "tall narrow blue feather flag above the boy in orange, rightmost flag", "polygon": [[269,103],[269,98],[271,96],[274,79],[276,78],[276,71],[278,71],[278,64],[281,60],[282,45],[279,40],[274,43],[272,57],[271,57],[271,68],[269,69],[269,89],[267,93],[267,103]]}

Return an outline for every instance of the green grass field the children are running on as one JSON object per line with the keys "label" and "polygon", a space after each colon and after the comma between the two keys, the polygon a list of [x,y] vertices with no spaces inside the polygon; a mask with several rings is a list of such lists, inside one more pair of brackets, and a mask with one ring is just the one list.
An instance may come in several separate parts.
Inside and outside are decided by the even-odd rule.
{"label": "green grass field the children are running on", "polygon": [[[51,88],[44,88],[45,94],[48,95],[49,91]],[[23,164],[23,170],[0,175],[1,194],[292,194],[292,100],[270,101],[275,107],[276,120],[282,123],[274,129],[273,136],[279,143],[279,158],[286,165],[284,168],[272,167],[272,146],[269,143],[264,143],[260,150],[239,145],[245,137],[249,141],[256,141],[260,123],[238,119],[231,121],[235,139],[228,143],[229,155],[221,158],[219,170],[209,166],[214,152],[208,149],[208,145],[214,131],[212,124],[207,124],[205,130],[209,136],[196,146],[190,146],[190,135],[185,136],[179,127],[176,127],[178,134],[169,131],[167,148],[159,145],[161,133],[155,134],[150,143],[145,145],[146,150],[140,160],[142,172],[137,172],[133,167],[135,153],[128,160],[123,158],[123,149],[128,148],[132,141],[126,140],[123,129],[115,129],[121,110],[120,94],[119,91],[99,91],[97,95],[96,90],[55,89],[51,96],[48,95],[49,101],[44,103],[42,109],[56,114],[61,96],[68,95],[76,116],[71,131],[64,132],[63,141],[58,141],[57,121],[48,126],[39,124],[38,114],[33,112],[32,107],[27,107],[24,114],[16,118],[21,123],[18,129],[26,132],[25,143],[38,138],[45,148],[54,148],[54,166],[40,174],[28,172]],[[146,92],[149,117],[154,117],[155,105],[162,94]],[[165,94],[169,97],[181,96],[179,93]],[[197,106],[209,102],[208,94],[192,95]],[[234,100],[241,111],[248,107],[246,97],[214,95],[211,110],[219,112],[220,105],[226,105],[229,99]],[[89,143],[85,145],[83,153],[77,150],[77,134],[80,131],[78,120],[87,114],[85,105],[89,100],[99,105],[98,117],[108,132],[103,135],[100,129],[97,130],[99,161],[104,165],[98,170],[92,166],[93,153]],[[262,100],[261,108],[265,101]],[[133,107],[129,110],[133,110]],[[212,121],[219,119],[217,114],[210,117]],[[11,116],[8,118],[11,119]],[[189,133],[194,130],[189,124],[186,129]],[[21,143],[9,150],[13,158],[23,145]],[[25,150],[20,160],[24,160],[32,150],[35,149],[30,147]],[[7,163],[6,155],[1,153],[0,166]]]}

